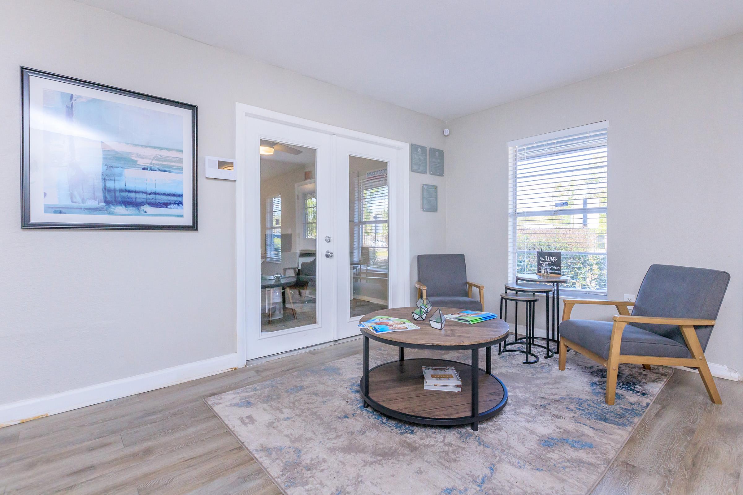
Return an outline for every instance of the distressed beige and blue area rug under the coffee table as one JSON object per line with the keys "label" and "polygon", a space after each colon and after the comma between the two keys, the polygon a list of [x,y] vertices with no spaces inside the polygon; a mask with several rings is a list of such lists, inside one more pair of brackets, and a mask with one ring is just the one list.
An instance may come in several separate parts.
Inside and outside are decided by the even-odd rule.
{"label": "distressed beige and blue area rug under the coffee table", "polygon": [[[371,367],[395,359],[397,348],[370,354]],[[470,362],[469,351],[406,351],[429,356]],[[364,408],[360,355],[206,401],[288,495],[574,495],[590,493],[672,373],[622,365],[607,406],[606,368],[573,352],[565,371],[557,355],[522,359],[493,353],[508,402],[477,432]]]}

